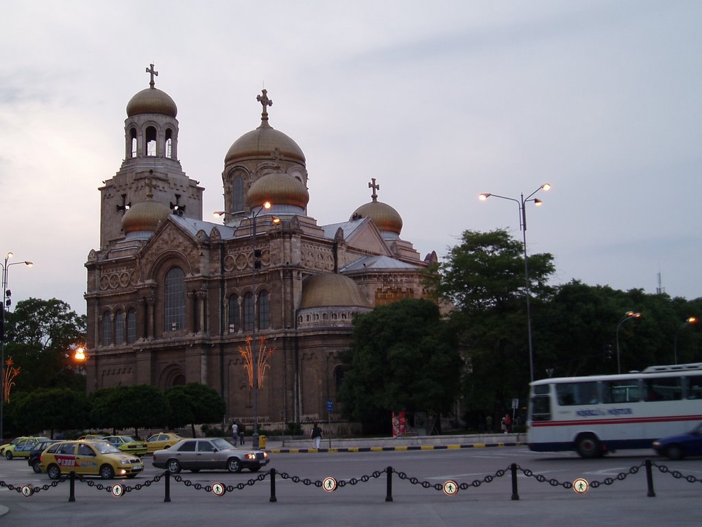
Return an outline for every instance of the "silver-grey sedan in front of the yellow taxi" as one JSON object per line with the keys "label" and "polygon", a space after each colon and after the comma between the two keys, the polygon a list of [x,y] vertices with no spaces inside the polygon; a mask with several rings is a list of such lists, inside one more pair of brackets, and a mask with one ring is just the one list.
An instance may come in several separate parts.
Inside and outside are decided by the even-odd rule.
{"label": "silver-grey sedan in front of the yellow taxi", "polygon": [[269,462],[267,452],[239,449],[220,437],[181,439],[167,450],[154,452],[153,460],[154,467],[168,469],[173,474],[178,474],[183,469],[192,472],[200,470],[241,472],[241,469],[249,469],[256,472]]}

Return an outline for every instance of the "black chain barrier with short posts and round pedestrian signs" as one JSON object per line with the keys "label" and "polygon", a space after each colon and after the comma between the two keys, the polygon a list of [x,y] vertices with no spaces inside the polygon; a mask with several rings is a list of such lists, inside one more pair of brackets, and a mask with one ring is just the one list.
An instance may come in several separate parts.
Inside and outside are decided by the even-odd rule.
{"label": "black chain barrier with short posts and round pedestrian signs", "polygon": [[[655,497],[656,493],[654,492],[654,487],[653,487],[653,476],[652,476],[652,470],[651,467],[656,467],[658,471],[660,471],[662,474],[670,474],[670,476],[673,476],[675,479],[682,479],[684,481],[687,481],[688,483],[702,483],[702,478],[698,478],[693,475],[685,475],[682,474],[682,472],[678,470],[671,470],[669,467],[656,463],[652,460],[644,460],[638,465],[634,465],[633,467],[630,467],[627,471],[622,471],[616,474],[614,477],[607,477],[603,479],[602,481],[590,481],[589,486],[591,488],[599,488],[600,486],[611,486],[614,483],[618,481],[624,481],[625,479],[628,478],[628,476],[632,476],[635,474],[638,474],[640,469],[642,467],[645,467],[646,469],[646,476],[647,476],[647,483],[648,483],[648,496],[649,497]],[[574,483],[571,483],[571,481],[558,481],[557,479],[549,479],[543,474],[535,474],[534,471],[531,471],[530,469],[520,467],[518,464],[512,463],[510,466],[508,466],[505,469],[499,469],[497,470],[494,474],[487,474],[484,476],[482,479],[475,479],[471,482],[464,482],[464,483],[455,483],[455,486],[458,487],[458,489],[461,490],[468,490],[470,488],[478,488],[479,486],[482,486],[484,483],[492,483],[493,481],[496,481],[496,479],[503,478],[507,474],[511,474],[512,476],[512,500],[519,500],[519,494],[517,493],[517,472],[520,471],[524,476],[527,478],[533,478],[539,483],[548,483],[552,487],[562,487],[564,489],[571,489],[573,488]],[[397,477],[403,481],[409,481],[409,483],[413,485],[418,485],[421,486],[422,488],[426,489],[433,489],[433,490],[443,490],[446,492],[446,486],[445,483],[430,483],[429,481],[420,481],[420,479],[414,477],[414,476],[408,476],[405,472],[403,471],[398,471],[392,467],[387,467],[386,469],[383,470],[376,470],[373,471],[371,474],[365,474],[364,476],[360,476],[358,478],[351,478],[347,480],[340,480],[336,481],[334,480],[335,483],[335,488],[344,488],[345,486],[355,486],[358,485],[359,483],[367,483],[371,481],[371,479],[378,479],[380,476],[387,476],[388,482],[388,490],[387,494],[385,497],[385,501],[392,501],[392,474],[396,474]],[[258,476],[254,479],[249,479],[248,481],[237,483],[236,485],[224,485],[223,483],[216,483],[218,486],[221,486],[223,490],[225,490],[227,493],[233,492],[234,490],[244,490],[246,487],[251,487],[256,485],[256,483],[260,483],[261,481],[265,481],[265,479],[270,479],[270,486],[271,486],[271,497],[270,501],[275,502],[277,501],[277,498],[275,497],[275,476],[280,476],[280,478],[291,481],[293,483],[302,483],[305,486],[314,486],[316,488],[323,488],[324,486],[324,481],[327,481],[329,479],[325,479],[324,481],[316,479],[309,479],[309,478],[301,478],[300,476],[296,475],[291,475],[288,474],[287,472],[279,472],[276,471],[275,469],[270,469],[270,471],[262,472],[261,474],[258,474]],[[11,483],[6,483],[5,481],[0,481],[0,488],[7,488],[8,490],[14,490],[17,493],[22,493],[26,496],[29,495],[35,495],[39,494],[41,492],[47,492],[48,490],[51,490],[53,488],[58,487],[61,483],[65,483],[66,481],[69,481],[70,483],[70,497],[69,501],[74,501],[74,482],[79,481],[80,483],[85,483],[88,487],[95,488],[97,490],[104,490],[107,493],[112,493],[114,495],[117,495],[113,492],[113,490],[117,490],[119,495],[122,494],[128,494],[133,491],[138,491],[138,490],[143,490],[145,488],[149,488],[153,486],[156,483],[160,483],[161,480],[165,480],[165,490],[166,490],[166,499],[164,501],[170,501],[170,495],[169,495],[169,488],[170,488],[170,479],[173,479],[174,481],[178,483],[182,483],[183,486],[185,487],[192,487],[194,490],[204,490],[206,493],[212,493],[213,492],[213,485],[202,485],[201,483],[193,482],[190,479],[185,479],[183,476],[179,476],[178,474],[172,474],[168,470],[164,471],[162,474],[157,474],[154,476],[152,479],[147,480],[147,481],[140,481],[139,483],[136,483],[135,485],[123,485],[122,483],[112,483],[110,485],[105,485],[101,481],[93,481],[91,479],[86,478],[85,476],[81,474],[75,474],[74,472],[71,472],[70,474],[65,474],[60,476],[60,478],[55,479],[54,481],[51,481],[51,483],[46,483],[42,486],[33,486],[33,485],[13,485]],[[450,483],[453,483],[452,481]],[[118,486],[119,485],[119,486]],[[326,488],[325,490],[329,490]],[[224,494],[224,493],[222,493]]]}

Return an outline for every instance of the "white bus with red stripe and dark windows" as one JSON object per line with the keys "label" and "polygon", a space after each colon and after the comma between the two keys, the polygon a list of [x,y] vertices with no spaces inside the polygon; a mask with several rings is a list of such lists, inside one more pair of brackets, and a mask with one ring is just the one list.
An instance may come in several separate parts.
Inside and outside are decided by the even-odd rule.
{"label": "white bus with red stripe and dark windows", "polygon": [[656,439],[683,434],[700,421],[702,363],[531,383],[527,424],[529,448],[536,452],[600,457],[652,448]]}

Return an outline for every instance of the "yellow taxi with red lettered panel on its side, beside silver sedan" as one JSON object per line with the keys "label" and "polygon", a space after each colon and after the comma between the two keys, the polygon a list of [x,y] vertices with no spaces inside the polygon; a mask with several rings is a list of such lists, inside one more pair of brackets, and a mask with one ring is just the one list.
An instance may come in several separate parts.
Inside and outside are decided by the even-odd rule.
{"label": "yellow taxi with red lettered panel on its side, beside silver sedan", "polygon": [[75,471],[83,476],[133,478],[144,470],[141,458],[125,454],[107,441],[62,441],[41,453],[39,465],[51,479]]}

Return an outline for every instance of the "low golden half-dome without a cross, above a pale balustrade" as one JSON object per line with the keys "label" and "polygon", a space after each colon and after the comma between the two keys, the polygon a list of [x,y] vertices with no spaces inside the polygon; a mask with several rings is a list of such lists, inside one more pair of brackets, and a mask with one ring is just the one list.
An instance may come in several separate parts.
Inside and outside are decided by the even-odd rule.
{"label": "low golden half-dome without a cross, above a pale balustrade", "polygon": [[317,307],[369,307],[356,282],[344,275],[322,273],[303,280],[300,309]]}

